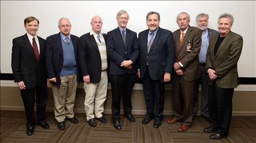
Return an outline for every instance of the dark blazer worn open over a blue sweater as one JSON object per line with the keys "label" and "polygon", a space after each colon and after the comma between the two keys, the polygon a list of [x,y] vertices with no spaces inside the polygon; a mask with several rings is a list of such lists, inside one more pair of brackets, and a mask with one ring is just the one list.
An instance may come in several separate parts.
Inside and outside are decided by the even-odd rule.
{"label": "dark blazer worn open over a blue sweater", "polygon": [[[77,81],[80,81],[80,71],[77,61],[77,43],[79,37],[71,35],[71,40],[74,46],[76,64],[77,64]],[[57,82],[52,82],[52,84],[60,85],[60,75],[59,72],[63,66],[63,49],[60,39],[60,33],[49,36],[46,38],[46,69],[48,78],[56,77]]]}

